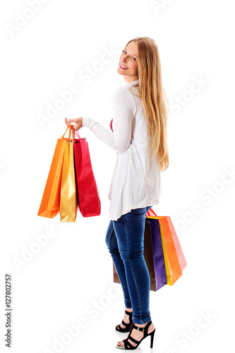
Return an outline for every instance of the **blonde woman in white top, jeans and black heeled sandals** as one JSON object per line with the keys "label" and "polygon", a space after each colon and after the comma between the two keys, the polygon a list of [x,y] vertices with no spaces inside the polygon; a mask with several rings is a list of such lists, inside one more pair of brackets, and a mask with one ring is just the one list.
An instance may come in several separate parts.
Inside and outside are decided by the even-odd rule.
{"label": "blonde woman in white top, jeans and black heeled sandals", "polygon": [[126,85],[112,97],[114,116],[110,127],[89,117],[66,119],[75,130],[88,126],[95,136],[117,151],[109,191],[110,222],[106,243],[119,275],[126,306],[119,332],[129,332],[120,349],[135,349],[151,336],[150,276],[143,256],[145,213],[159,203],[160,172],[169,166],[167,148],[167,97],[157,44],[136,37],[123,49],[117,72]]}

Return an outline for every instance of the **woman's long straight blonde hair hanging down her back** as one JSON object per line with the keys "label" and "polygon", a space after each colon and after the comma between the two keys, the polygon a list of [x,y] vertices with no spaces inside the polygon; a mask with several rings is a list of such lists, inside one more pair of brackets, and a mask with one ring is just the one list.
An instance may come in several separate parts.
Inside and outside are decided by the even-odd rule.
{"label": "woman's long straight blonde hair hanging down her back", "polygon": [[[162,86],[162,68],[155,40],[136,37],[130,42],[138,45],[138,76],[140,97],[147,119],[148,143],[153,157],[159,157],[161,172],[169,167],[167,147],[167,115],[169,102]],[[151,138],[150,138],[151,137]]]}

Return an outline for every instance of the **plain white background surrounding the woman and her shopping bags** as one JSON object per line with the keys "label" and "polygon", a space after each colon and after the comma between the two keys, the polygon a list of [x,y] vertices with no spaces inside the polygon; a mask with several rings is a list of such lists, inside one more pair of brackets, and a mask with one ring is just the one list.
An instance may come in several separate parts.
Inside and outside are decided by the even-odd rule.
{"label": "plain white background surrounding the woman and her shopping bags", "polygon": [[[5,273],[13,283],[11,352],[116,352],[117,340],[126,337],[114,330],[123,318],[123,297],[120,285],[112,284],[104,242],[116,152],[88,128],[80,130],[88,138],[100,191],[99,217],[78,212],[75,223],[64,224],[59,216],[51,220],[37,212],[64,117],[90,116],[109,128],[112,92],[125,84],[116,73],[119,55],[138,36],[157,42],[171,104],[170,164],[153,209],[171,217],[188,263],[173,287],[150,293],[153,352],[234,349],[232,5],[228,0],[1,3],[1,352],[7,349]],[[108,49],[115,54],[106,55],[104,64]],[[193,85],[196,80],[200,84]],[[48,104],[75,83],[80,92],[40,124],[39,114],[46,116]],[[40,246],[40,238],[47,244]],[[74,337],[68,334],[72,327]],[[149,342],[143,341],[140,351],[149,352]]]}

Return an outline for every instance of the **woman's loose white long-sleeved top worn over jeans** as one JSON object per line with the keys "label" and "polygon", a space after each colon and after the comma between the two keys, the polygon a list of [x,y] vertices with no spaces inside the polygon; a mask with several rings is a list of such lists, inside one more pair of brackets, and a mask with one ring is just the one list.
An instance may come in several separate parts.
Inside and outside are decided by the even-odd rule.
{"label": "woman's loose white long-sleeved top worn over jeans", "polygon": [[[116,163],[109,189],[109,219],[118,220],[134,208],[159,203],[162,195],[158,157],[150,161],[147,149],[147,120],[139,79],[116,88],[112,96],[114,132],[104,128],[90,117],[83,117],[83,126],[117,151]],[[135,95],[131,92],[134,92]]]}

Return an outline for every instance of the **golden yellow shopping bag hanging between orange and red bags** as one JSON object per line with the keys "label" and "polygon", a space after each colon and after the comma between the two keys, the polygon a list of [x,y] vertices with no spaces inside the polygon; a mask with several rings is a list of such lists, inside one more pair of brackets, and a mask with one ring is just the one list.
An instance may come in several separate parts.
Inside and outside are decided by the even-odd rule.
{"label": "golden yellow shopping bag hanging between orange and red bags", "polygon": [[[78,210],[76,178],[73,157],[74,131],[73,126],[68,126],[68,140],[64,150],[64,162],[61,178],[60,216],[61,222],[75,222]],[[71,131],[73,137],[71,138]]]}

